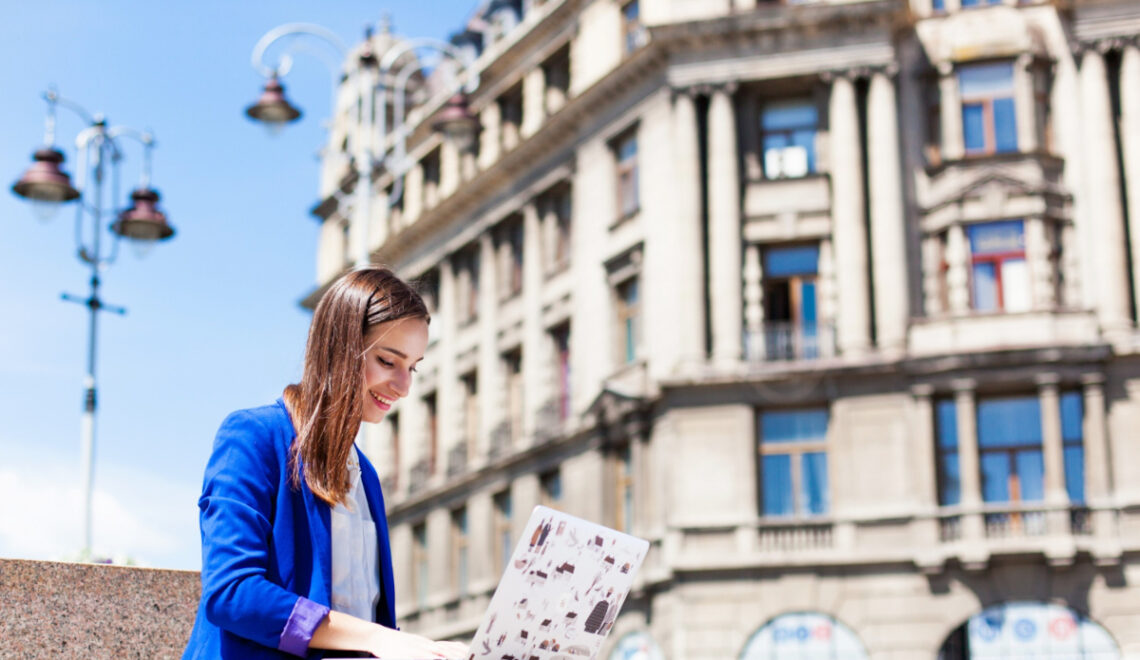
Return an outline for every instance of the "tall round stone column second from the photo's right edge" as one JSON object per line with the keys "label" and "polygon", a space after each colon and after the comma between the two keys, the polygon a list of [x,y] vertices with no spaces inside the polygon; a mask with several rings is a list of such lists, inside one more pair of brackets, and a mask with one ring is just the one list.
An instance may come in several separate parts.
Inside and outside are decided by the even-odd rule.
{"label": "tall round stone column second from the photo's right edge", "polygon": [[1084,218],[1096,235],[1097,316],[1112,337],[1131,325],[1127,288],[1127,245],[1124,241],[1124,210],[1116,168],[1113,111],[1108,93],[1105,57],[1085,50],[1081,62],[1081,103],[1084,147]]}

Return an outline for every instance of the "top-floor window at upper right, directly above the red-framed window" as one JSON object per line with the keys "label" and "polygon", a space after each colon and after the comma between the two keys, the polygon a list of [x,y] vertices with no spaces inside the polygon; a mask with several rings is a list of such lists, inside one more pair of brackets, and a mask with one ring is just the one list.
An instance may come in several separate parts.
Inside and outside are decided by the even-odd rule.
{"label": "top-floor window at upper right, directly above the red-framed window", "polygon": [[967,155],[1017,150],[1013,64],[978,64],[958,72]]}

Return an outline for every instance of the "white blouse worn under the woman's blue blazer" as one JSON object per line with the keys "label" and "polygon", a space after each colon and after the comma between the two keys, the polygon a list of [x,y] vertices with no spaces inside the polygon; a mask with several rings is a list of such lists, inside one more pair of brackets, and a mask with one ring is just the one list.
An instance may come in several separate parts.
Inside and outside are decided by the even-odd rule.
{"label": "white blouse worn under the woman's blue blazer", "polygon": [[357,448],[349,454],[349,496],[332,508],[332,609],[375,621],[380,602],[380,556],[376,523],[360,482]]}

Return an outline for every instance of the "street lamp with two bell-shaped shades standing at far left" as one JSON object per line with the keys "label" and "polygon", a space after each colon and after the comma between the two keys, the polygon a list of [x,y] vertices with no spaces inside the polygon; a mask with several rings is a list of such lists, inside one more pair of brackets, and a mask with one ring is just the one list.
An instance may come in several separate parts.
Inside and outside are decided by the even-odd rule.
{"label": "street lamp with two bell-shaped shades standing at far left", "polygon": [[[78,201],[75,212],[75,242],[79,260],[91,269],[90,293],[80,298],[68,293],[63,299],[87,307],[87,376],[83,378],[83,418],[80,441],[82,443],[83,471],[83,551],[82,559],[91,556],[91,495],[95,481],[95,349],[96,321],[100,311],[127,313],[121,307],[109,305],[99,298],[99,275],[109,267],[119,254],[119,239],[127,238],[132,243],[148,246],[157,241],[164,241],[174,235],[174,229],[166,222],[166,215],[158,210],[158,193],[150,187],[150,152],[154,148],[154,136],[127,127],[108,127],[101,115],[91,115],[82,106],[60,97],[54,90],[43,95],[48,103],[44,120],[44,146],[32,155],[32,165],[17,180],[11,189],[16,195],[35,204],[39,211],[55,211],[65,202]],[[63,106],[78,114],[87,128],[75,137],[75,149],[79,156],[79,179],[72,185],[71,177],[63,170],[64,154],[55,146],[56,107]],[[109,229],[113,244],[109,254],[103,254],[103,221],[112,213],[104,201],[104,184],[107,165],[111,165],[114,189],[111,204],[115,203],[119,186],[119,163],[123,158],[123,138],[137,140],[142,145],[142,177],[138,187],[131,193],[131,206],[121,212]],[[85,177],[91,184],[87,185]],[[84,220],[90,225],[84,229]]]}

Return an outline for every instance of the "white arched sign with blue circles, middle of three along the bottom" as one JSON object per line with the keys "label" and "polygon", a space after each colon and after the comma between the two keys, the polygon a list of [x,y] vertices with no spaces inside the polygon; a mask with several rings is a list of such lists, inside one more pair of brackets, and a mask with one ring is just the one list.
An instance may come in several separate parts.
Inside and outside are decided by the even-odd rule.
{"label": "white arched sign with blue circles, middle of three along the bottom", "polygon": [[866,660],[866,651],[832,617],[800,612],[768,621],[744,645],[740,660]]}

